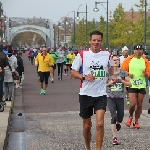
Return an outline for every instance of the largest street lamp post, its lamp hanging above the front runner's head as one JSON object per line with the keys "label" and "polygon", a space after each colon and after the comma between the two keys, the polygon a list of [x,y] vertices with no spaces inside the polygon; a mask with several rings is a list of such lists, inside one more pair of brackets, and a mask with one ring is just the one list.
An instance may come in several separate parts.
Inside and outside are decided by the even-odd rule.
{"label": "largest street lamp post, its lamp hanging above the front runner's head", "polygon": [[106,49],[108,49],[108,45],[109,45],[108,44],[108,0],[107,0],[107,2],[95,2],[95,8],[93,9],[93,11],[98,12],[99,9],[97,8],[97,4],[101,4],[102,5],[102,3],[107,3],[107,11],[106,11],[106,14],[107,14],[107,21],[106,21]]}

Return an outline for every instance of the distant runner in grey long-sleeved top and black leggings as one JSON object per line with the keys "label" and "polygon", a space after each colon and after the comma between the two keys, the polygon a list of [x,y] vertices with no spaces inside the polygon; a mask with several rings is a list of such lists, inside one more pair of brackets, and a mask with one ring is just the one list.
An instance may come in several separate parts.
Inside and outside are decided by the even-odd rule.
{"label": "distant runner in grey long-sleeved top and black leggings", "polygon": [[56,51],[56,54],[59,57],[57,59],[58,80],[62,80],[63,65],[64,65],[64,58],[65,58],[65,52],[63,51],[62,46],[59,47],[59,49]]}

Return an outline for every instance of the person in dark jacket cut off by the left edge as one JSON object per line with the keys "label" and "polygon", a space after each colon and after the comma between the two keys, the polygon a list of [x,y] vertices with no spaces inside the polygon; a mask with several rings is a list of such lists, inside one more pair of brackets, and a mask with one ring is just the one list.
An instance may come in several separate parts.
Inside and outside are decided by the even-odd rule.
{"label": "person in dark jacket cut off by the left edge", "polygon": [[3,53],[3,45],[0,44],[0,102],[3,102],[4,67],[7,65],[7,56]]}

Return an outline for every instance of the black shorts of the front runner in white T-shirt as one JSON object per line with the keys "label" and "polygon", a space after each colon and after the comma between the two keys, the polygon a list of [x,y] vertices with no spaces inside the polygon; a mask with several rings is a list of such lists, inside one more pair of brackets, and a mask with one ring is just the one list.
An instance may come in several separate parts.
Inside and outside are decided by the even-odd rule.
{"label": "black shorts of the front runner in white T-shirt", "polygon": [[90,118],[97,110],[105,110],[107,106],[107,96],[91,97],[79,95],[80,117],[83,119]]}

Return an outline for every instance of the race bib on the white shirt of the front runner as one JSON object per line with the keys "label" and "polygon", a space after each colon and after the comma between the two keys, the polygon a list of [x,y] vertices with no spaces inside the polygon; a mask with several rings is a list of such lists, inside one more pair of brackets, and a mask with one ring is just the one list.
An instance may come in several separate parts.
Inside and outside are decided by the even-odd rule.
{"label": "race bib on the white shirt of the front runner", "polygon": [[99,70],[99,69],[92,69],[91,74],[95,77],[95,80],[100,80],[106,77],[106,71],[105,70]]}

